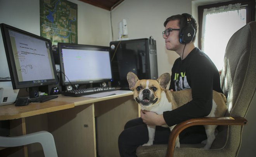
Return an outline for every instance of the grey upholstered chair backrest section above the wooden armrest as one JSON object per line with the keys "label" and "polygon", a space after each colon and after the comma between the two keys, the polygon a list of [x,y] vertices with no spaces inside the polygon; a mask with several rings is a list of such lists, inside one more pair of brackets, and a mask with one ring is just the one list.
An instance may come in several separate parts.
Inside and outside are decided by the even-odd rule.
{"label": "grey upholstered chair backrest section above the wooden armrest", "polygon": [[245,117],[256,87],[256,22],[235,32],[227,44],[221,88],[227,97],[228,114]]}

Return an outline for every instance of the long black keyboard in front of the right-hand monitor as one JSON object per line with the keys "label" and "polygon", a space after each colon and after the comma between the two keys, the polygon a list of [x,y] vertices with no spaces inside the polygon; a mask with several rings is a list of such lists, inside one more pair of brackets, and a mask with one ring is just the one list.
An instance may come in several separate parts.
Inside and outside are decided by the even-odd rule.
{"label": "long black keyboard in front of the right-hand monitor", "polygon": [[82,88],[82,89],[72,89],[71,91],[62,91],[62,95],[65,96],[84,96],[96,93],[102,93],[107,91],[115,91],[114,87],[92,87],[92,88]]}

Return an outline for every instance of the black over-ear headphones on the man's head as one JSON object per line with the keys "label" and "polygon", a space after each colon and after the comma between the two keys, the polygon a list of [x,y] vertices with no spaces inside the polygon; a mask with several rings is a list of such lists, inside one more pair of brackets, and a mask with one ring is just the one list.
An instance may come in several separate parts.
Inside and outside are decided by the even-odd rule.
{"label": "black over-ear headphones on the man's head", "polygon": [[193,40],[195,36],[195,29],[191,21],[192,16],[187,13],[182,14],[182,16],[184,18],[181,19],[181,22],[180,22],[180,26],[181,26],[180,32],[179,32],[180,43],[187,44]]}

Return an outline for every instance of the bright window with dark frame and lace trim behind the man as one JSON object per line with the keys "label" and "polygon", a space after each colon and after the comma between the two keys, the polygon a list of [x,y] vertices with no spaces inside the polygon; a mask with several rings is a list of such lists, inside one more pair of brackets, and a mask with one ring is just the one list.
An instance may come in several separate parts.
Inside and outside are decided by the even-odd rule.
{"label": "bright window with dark frame and lace trim behind the man", "polygon": [[199,48],[222,69],[225,49],[230,37],[254,20],[254,0],[233,0],[198,7]]}

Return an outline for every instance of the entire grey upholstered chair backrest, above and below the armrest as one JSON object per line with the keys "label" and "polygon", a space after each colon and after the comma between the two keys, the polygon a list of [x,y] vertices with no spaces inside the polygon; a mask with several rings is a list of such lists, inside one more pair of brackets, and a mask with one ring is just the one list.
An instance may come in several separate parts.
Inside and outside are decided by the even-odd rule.
{"label": "entire grey upholstered chair backrest, above and below the armrest", "polygon": [[[220,77],[221,88],[227,97],[228,111],[225,116],[245,118],[256,89],[255,21],[239,29],[228,41]],[[211,149],[223,149],[229,152],[230,156],[237,156],[242,140],[242,128],[220,126],[221,131]]]}

